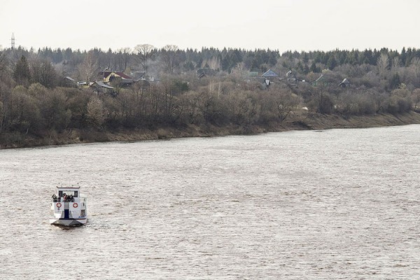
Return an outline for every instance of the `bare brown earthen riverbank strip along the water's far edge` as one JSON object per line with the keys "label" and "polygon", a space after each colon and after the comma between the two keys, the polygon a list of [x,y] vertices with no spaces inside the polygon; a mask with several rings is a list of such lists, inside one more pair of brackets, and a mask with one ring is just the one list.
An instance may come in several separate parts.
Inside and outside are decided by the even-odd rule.
{"label": "bare brown earthen riverbank strip along the water's far edge", "polygon": [[171,139],[181,137],[216,137],[239,134],[260,134],[283,132],[288,130],[328,130],[333,128],[367,128],[393,125],[420,124],[420,113],[398,115],[375,114],[371,116],[337,116],[318,113],[295,114],[281,123],[265,125],[189,125],[188,127],[160,127],[157,129],[137,130],[65,130],[62,133],[49,132],[44,137],[18,132],[0,134],[1,148],[25,148],[34,146],[52,146],[82,144],[107,141],[141,141]]}

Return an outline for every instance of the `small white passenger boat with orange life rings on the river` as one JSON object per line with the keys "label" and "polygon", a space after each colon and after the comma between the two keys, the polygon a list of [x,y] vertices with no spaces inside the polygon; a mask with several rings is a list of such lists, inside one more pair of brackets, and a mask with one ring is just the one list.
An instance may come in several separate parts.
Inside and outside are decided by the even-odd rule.
{"label": "small white passenger boat with orange life rings on the river", "polygon": [[73,227],[87,222],[86,197],[80,195],[80,187],[58,187],[52,195],[51,225]]}

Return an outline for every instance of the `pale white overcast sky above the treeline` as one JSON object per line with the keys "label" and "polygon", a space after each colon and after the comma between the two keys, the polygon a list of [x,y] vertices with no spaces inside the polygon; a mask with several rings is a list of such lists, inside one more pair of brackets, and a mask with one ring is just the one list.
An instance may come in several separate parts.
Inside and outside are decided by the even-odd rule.
{"label": "pale white overcast sky above the treeline", "polygon": [[420,0],[0,0],[0,45],[420,48]]}

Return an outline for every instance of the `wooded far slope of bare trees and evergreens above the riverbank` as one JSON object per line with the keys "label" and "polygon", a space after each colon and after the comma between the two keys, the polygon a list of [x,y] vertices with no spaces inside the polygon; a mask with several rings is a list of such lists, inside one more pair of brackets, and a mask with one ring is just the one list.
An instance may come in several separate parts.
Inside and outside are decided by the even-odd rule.
{"label": "wooded far slope of bare trees and evergreens above the riverbank", "polygon": [[[277,76],[262,78],[269,69]],[[89,87],[104,71],[141,78],[114,83],[112,92]],[[419,102],[420,49],[414,48],[280,53],[142,44],[114,51],[0,51],[3,144],[71,130],[205,129],[314,114],[420,113]]]}

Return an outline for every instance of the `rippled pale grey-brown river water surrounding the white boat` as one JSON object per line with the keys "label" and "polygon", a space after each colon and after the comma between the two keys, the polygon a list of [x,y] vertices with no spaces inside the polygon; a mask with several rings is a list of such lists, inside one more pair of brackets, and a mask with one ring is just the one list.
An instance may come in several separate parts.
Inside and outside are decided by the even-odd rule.
{"label": "rippled pale grey-brown river water surrounding the white boat", "polygon": [[419,163],[420,125],[2,150],[0,279],[420,279]]}

